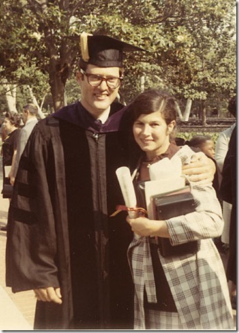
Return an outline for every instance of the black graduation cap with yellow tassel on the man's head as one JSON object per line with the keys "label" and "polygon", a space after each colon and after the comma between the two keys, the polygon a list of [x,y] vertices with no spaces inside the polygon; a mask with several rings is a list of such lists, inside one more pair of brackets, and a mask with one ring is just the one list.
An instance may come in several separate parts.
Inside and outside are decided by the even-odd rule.
{"label": "black graduation cap with yellow tassel on the man's head", "polygon": [[122,67],[123,52],[145,51],[110,36],[81,34],[81,55],[85,63],[98,67]]}

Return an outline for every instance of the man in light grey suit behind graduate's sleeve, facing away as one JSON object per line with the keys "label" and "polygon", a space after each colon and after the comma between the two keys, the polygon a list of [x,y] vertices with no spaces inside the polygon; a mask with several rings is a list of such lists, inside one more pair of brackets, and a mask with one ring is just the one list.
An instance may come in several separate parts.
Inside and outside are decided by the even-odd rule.
{"label": "man in light grey suit behind graduate's sleeve, facing away", "polygon": [[8,175],[8,177],[10,178],[10,184],[12,186],[14,185],[14,180],[17,175],[17,169],[19,166],[21,154],[23,153],[25,145],[28,142],[30,133],[32,133],[32,129],[34,129],[34,126],[37,125],[38,122],[37,114],[38,114],[38,109],[36,105],[27,104],[23,107],[22,117],[25,126],[23,126],[23,128],[19,133],[19,139],[17,141],[17,150],[14,151],[14,156],[12,158],[12,169]]}

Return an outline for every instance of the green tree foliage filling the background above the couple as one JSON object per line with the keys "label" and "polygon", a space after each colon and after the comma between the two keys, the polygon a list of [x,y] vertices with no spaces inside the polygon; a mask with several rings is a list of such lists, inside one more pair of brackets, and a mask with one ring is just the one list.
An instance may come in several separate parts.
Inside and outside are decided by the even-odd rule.
{"label": "green tree foliage filling the background above the couple", "polygon": [[228,99],[236,89],[235,8],[229,0],[4,0],[1,77],[37,86],[41,72],[59,109],[80,52],[68,37],[98,32],[147,50],[125,56],[126,103],[148,87],[170,89],[182,101]]}

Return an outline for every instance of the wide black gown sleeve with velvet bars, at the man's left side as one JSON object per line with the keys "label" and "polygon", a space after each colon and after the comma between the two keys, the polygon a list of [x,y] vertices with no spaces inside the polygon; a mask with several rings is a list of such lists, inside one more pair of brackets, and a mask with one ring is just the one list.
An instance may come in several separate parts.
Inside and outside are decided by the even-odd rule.
{"label": "wide black gown sleeve with velvet bars, at the man's left side", "polygon": [[[52,141],[35,127],[19,162],[8,213],[6,285],[13,292],[58,287]],[[54,190],[51,190],[54,191]]]}

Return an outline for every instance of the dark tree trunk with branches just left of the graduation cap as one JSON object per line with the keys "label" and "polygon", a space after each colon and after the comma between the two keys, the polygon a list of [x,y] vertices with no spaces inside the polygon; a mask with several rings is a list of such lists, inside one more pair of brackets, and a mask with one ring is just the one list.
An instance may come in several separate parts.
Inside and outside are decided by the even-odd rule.
{"label": "dark tree trunk with branches just left of the graduation cap", "polygon": [[[75,57],[79,52],[78,47],[74,47],[70,39],[63,37],[65,32],[67,35],[70,31],[70,18],[74,16],[74,11],[84,6],[81,3],[87,3],[87,1],[28,0],[26,2],[30,3],[30,10],[38,19],[38,29],[44,35],[44,37],[41,37],[41,41],[46,47],[46,53],[49,58],[49,63],[45,63],[44,70],[49,74],[54,111],[57,111],[65,106],[65,83],[69,76],[70,68],[72,68],[72,63],[74,63]],[[54,17],[53,13],[57,12],[57,10],[64,13],[58,18],[61,21],[61,26],[65,29],[65,32],[62,31],[61,39],[58,39],[57,34],[54,35],[54,29],[52,28],[54,19],[50,19],[52,15]],[[57,24],[59,24],[59,21]],[[39,54],[39,60],[42,61],[41,54]]]}

